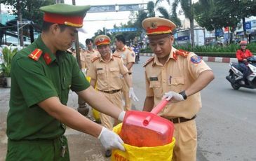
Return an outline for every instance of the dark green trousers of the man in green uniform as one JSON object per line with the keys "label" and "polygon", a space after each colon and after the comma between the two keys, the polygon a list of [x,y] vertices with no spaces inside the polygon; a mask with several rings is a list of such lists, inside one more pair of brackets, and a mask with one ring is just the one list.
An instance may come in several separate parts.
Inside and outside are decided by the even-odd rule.
{"label": "dark green trousers of the man in green uniform", "polygon": [[8,139],[6,161],[47,160],[69,161],[69,149],[65,136],[53,140]]}

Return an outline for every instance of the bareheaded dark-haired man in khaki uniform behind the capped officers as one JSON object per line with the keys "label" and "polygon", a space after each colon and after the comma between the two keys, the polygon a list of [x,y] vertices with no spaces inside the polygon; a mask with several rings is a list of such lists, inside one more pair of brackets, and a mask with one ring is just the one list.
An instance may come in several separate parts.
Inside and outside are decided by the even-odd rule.
{"label": "bareheaded dark-haired man in khaki uniform behind the capped officers", "polygon": [[[132,73],[133,73],[133,64],[135,62],[135,52],[131,48],[128,48],[128,46],[126,45],[126,39],[122,34],[116,35],[115,43],[116,43],[116,51],[114,52],[114,55],[118,55],[122,57],[124,65],[129,70],[128,74],[130,75],[130,78],[133,80]],[[126,84],[125,80],[123,80],[123,78],[122,78],[122,92],[123,92],[123,97],[125,101],[124,109],[126,111],[131,110],[132,104],[129,97],[129,87]],[[136,99],[135,101],[138,101],[138,100]]]}

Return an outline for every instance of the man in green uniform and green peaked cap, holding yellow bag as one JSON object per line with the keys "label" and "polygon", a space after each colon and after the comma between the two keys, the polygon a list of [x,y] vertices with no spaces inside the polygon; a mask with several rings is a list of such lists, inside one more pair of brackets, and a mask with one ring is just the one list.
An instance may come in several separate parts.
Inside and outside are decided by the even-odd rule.
{"label": "man in green uniform and green peaked cap, holding yellow bag", "polygon": [[66,52],[89,8],[67,4],[40,8],[41,36],[12,62],[6,160],[69,160],[66,125],[97,137],[107,149],[124,151],[117,134],[67,106],[71,89],[102,113],[121,121],[125,114],[90,86],[76,59]]}

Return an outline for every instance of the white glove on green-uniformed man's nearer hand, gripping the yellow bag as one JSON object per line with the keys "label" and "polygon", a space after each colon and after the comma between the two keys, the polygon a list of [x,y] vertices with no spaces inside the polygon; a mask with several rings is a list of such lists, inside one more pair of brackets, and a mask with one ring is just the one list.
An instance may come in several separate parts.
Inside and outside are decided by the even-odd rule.
{"label": "white glove on green-uniformed man's nearer hand, gripping the yellow bag", "polygon": [[102,127],[99,137],[102,146],[105,149],[119,148],[121,151],[126,151],[123,147],[123,140],[119,137],[118,134],[107,130],[105,127]]}

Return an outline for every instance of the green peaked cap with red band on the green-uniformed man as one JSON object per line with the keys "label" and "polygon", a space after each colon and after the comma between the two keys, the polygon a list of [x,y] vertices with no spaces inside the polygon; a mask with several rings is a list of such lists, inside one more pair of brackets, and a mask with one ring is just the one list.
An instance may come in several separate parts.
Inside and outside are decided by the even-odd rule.
{"label": "green peaked cap with red band on the green-uniformed man", "polygon": [[40,8],[44,12],[43,21],[67,25],[71,27],[83,27],[83,18],[90,6],[74,6],[58,3]]}

